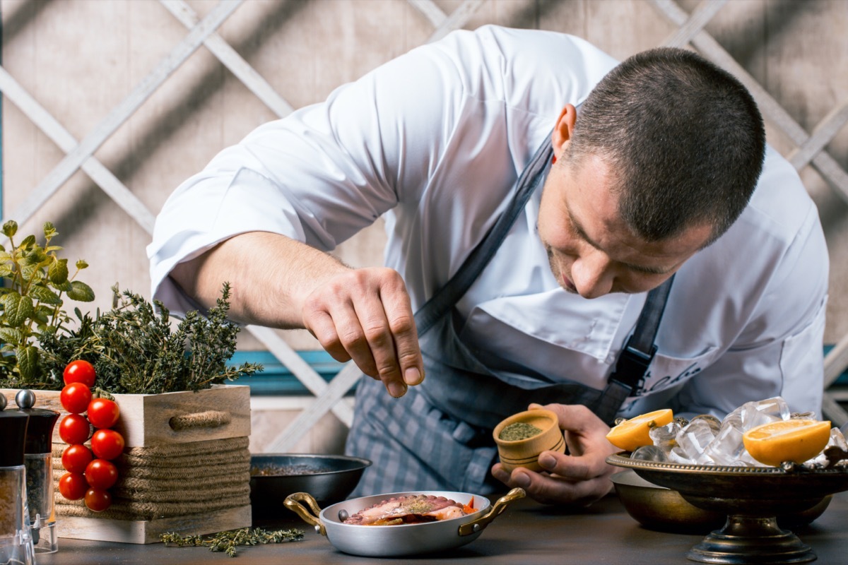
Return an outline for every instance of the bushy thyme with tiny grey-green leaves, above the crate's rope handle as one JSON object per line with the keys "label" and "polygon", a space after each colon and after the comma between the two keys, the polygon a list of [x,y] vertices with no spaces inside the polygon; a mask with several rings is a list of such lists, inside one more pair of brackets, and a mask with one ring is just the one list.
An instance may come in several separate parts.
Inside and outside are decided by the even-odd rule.
{"label": "bushy thyme with tiny grey-green leaves, above the crate's rope handle", "polygon": [[114,292],[113,307],[96,319],[83,316],[67,339],[42,344],[57,363],[84,358],[98,385],[112,394],[198,391],[261,371],[257,363],[227,365],[236,352],[237,324],[227,319],[230,285],[223,285],[206,316],[196,310],[177,320],[159,301],[131,291]]}

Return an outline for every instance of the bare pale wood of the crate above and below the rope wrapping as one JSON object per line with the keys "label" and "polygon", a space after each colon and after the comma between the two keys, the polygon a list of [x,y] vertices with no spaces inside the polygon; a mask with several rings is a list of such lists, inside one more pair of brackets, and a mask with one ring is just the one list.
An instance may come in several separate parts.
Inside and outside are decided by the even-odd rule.
{"label": "bare pale wood of the crate above and below the rope wrapping", "polygon": [[[17,390],[2,389],[10,406],[14,406]],[[64,417],[59,391],[35,391],[36,407],[55,410]],[[126,447],[151,447],[189,442],[247,438],[250,435],[250,388],[243,385],[214,385],[204,391],[168,392],[159,395],[114,395],[120,407],[120,418],[114,429],[126,440]],[[181,427],[192,416],[211,415],[209,427]],[[54,446],[64,446],[59,438],[59,425],[53,430]],[[249,484],[249,476],[245,476]],[[58,486],[57,486],[58,491]],[[159,535],[177,532],[182,535],[213,534],[251,525],[251,508],[226,508],[204,512],[155,518],[119,520],[98,517],[63,516],[57,513],[59,537],[76,540],[118,541],[148,544],[159,542]]]}

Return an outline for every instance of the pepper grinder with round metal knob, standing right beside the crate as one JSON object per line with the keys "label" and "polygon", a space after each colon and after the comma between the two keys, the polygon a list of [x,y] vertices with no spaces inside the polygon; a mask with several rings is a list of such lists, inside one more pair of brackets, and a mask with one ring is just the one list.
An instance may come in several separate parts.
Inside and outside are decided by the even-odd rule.
{"label": "pepper grinder with round metal knob, standing right beside the crate", "polygon": [[26,428],[24,464],[26,503],[30,509],[32,544],[36,555],[59,551],[56,514],[53,512],[53,426],[59,413],[34,408],[32,391],[19,391],[14,397],[20,412],[30,417]]}

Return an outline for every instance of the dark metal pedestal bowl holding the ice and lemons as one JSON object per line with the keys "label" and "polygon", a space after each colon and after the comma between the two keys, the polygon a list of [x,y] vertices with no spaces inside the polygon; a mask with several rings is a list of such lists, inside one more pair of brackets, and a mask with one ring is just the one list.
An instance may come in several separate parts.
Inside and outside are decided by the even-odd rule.
{"label": "dark metal pedestal bowl holding the ice and lemons", "polygon": [[703,510],[722,512],[727,522],[686,554],[703,563],[804,563],[816,559],[810,546],[778,526],[782,514],[804,512],[836,492],[848,490],[848,468],[786,470],[682,465],[611,455],[607,463],[632,468],[656,485],[677,490]]}

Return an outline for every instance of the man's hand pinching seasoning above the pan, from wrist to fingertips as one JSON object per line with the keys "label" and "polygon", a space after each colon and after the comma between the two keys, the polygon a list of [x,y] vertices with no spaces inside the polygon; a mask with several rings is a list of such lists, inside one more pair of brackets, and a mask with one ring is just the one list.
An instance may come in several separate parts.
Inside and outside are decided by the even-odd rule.
{"label": "man's hand pinching seasoning above the pan, from wrist to fingertips", "polygon": [[393,269],[349,269],[325,280],[304,302],[304,327],[337,361],[403,396],[424,379],[410,296]]}

